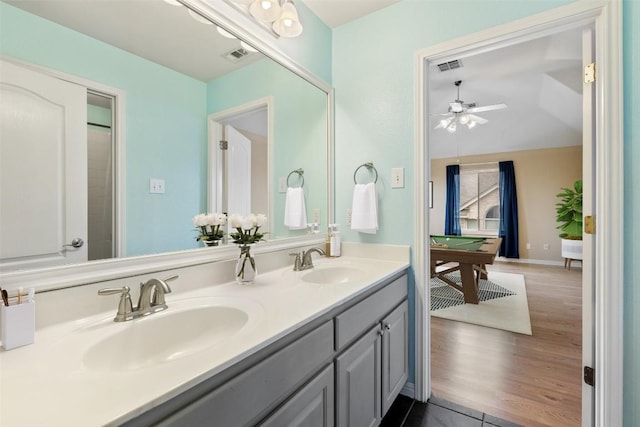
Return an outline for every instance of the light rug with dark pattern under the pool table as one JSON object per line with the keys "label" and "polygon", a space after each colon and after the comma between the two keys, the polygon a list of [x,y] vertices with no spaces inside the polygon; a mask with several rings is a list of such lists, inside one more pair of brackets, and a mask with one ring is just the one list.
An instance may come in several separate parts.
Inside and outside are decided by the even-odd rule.
{"label": "light rug with dark pattern under the pool table", "polygon": [[[447,275],[459,283],[457,273]],[[431,315],[531,335],[527,289],[522,274],[489,272],[478,285],[479,304],[466,304],[462,294],[438,278],[431,279]]]}

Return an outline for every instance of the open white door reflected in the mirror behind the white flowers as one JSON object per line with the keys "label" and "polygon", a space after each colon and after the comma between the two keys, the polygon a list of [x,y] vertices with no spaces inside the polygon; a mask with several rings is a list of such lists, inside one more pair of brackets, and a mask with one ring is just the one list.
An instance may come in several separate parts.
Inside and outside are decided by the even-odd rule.
{"label": "open white door reflected in the mirror behind the white flowers", "polygon": [[251,140],[235,129],[225,126],[227,139],[227,212],[251,213]]}

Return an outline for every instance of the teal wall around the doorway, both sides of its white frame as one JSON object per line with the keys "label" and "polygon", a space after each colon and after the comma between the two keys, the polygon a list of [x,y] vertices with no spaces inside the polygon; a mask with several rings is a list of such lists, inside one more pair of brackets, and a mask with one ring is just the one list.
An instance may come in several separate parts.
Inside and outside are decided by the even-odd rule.
{"label": "teal wall around the doorway, both sides of its white frame", "polygon": [[[350,206],[355,168],[372,161],[380,173],[380,231],[363,235],[345,229],[345,240],[413,243],[415,52],[566,3],[569,1],[404,0],[334,30],[337,222],[344,222]],[[640,2],[625,0],[626,426],[638,425],[640,420],[640,292],[636,289],[640,282],[640,171],[636,167],[640,162],[639,27]],[[392,167],[405,168],[404,189],[390,188]]]}

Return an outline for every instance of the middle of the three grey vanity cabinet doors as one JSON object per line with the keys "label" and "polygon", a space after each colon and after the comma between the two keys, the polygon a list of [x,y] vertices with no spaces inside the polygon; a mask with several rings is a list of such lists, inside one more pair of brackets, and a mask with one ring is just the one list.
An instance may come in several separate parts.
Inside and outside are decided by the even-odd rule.
{"label": "middle of the three grey vanity cabinet doors", "polygon": [[380,333],[376,325],[336,359],[338,426],[375,426],[382,419]]}

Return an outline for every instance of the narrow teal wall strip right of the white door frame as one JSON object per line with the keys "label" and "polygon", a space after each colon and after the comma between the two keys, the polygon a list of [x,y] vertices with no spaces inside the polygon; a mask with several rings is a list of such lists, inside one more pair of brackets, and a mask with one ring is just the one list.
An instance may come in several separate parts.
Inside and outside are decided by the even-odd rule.
{"label": "narrow teal wall strip right of the white door frame", "polygon": [[623,2],[624,425],[640,424],[640,2]]}

